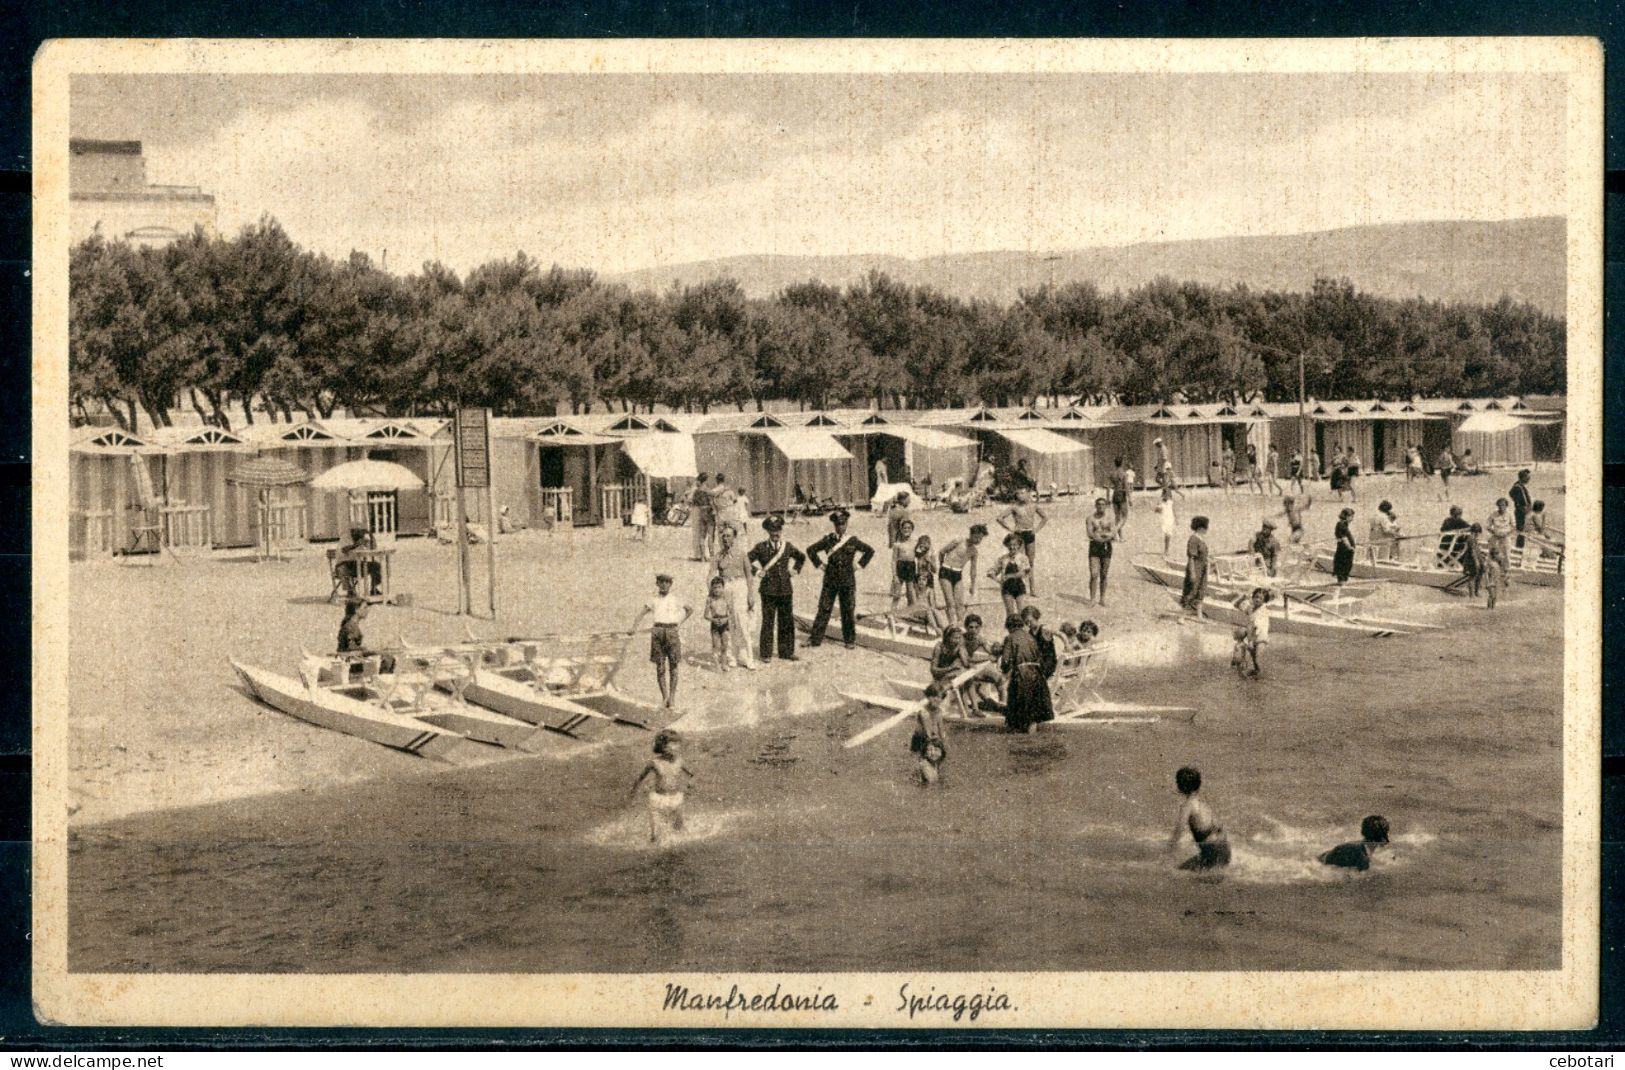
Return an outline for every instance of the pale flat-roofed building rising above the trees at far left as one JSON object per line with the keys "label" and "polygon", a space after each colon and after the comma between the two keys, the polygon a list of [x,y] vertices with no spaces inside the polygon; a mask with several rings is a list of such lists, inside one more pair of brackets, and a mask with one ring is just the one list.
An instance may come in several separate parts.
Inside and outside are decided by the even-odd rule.
{"label": "pale flat-roofed building rising above the trees at far left", "polygon": [[214,197],[197,185],[150,185],[140,141],[68,141],[73,244],[101,229],[109,241],[167,246],[193,228],[214,233]]}

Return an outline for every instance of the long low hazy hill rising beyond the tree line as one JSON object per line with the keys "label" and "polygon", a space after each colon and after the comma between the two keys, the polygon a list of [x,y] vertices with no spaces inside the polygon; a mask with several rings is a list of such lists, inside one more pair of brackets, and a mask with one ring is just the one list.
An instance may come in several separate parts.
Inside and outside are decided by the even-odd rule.
{"label": "long low hazy hill rising beyond the tree line", "polygon": [[936,286],[960,298],[1011,301],[1046,281],[1092,281],[1128,289],[1168,275],[1217,286],[1308,289],[1316,275],[1347,276],[1389,298],[1493,302],[1503,294],[1547,312],[1565,307],[1566,228],[1560,216],[1495,223],[1388,223],[1310,234],[1212,237],[1100,246],[1060,254],[975,252],[908,260],[886,255],[744,255],[609,276],[634,288],[666,289],[733,276],[754,298],[817,278],[835,286],[869,270]]}

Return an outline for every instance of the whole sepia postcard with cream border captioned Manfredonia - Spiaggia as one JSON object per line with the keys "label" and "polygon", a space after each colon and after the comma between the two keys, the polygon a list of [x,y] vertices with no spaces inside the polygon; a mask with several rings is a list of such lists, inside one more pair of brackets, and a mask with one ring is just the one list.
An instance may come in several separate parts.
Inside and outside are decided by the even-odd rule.
{"label": "whole sepia postcard with cream border captioned Manfredonia - Spiaggia", "polygon": [[34,122],[41,1020],[1594,1021],[1596,41],[60,41]]}

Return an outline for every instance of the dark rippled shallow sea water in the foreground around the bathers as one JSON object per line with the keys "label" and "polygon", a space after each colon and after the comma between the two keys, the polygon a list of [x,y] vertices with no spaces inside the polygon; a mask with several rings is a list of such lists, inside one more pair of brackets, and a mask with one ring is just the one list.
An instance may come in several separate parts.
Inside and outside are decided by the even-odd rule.
{"label": "dark rippled shallow sea water in the foreground around the bathers", "polygon": [[[1167,623],[1120,644],[1103,691],[1194,724],[957,732],[933,789],[907,729],[843,750],[881,714],[739,673],[738,702],[682,724],[697,781],[666,847],[627,797],[632,730],[570,761],[91,826],[70,968],[1555,968],[1562,662],[1529,652],[1562,649],[1562,598],[1516,595],[1430,610],[1454,633],[1280,637],[1258,681],[1222,629]],[[1224,873],[1165,850],[1181,764],[1230,837]],[[1393,823],[1384,865],[1315,862],[1365,813]]]}

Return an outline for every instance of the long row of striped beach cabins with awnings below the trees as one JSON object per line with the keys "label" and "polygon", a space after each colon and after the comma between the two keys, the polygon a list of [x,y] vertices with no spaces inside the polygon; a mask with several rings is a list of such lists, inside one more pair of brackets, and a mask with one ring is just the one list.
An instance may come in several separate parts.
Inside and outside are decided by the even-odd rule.
{"label": "long row of striped beach cabins with awnings below the trees", "polygon": [[[1349,446],[1367,472],[1404,468],[1410,446],[1432,460],[1450,447],[1480,467],[1562,460],[1562,398],[1310,402],[1310,446],[1323,459]],[[497,418],[492,480],[497,507],[525,527],[619,524],[632,502],[656,517],[697,473],[728,475],[756,512],[800,501],[869,501],[874,462],[892,481],[920,488],[970,483],[982,462],[1025,462],[1043,493],[1102,486],[1123,457],[1144,485],[1162,439],[1181,485],[1209,483],[1228,444],[1237,454],[1271,444],[1282,468],[1300,447],[1297,403],[1134,405],[1071,408],[592,413]],[[353,525],[385,535],[427,535],[455,525],[452,428],[442,418],[333,418],[124,431],[80,428],[72,439],[70,553],[130,550],[132,532],[159,527],[172,546],[254,546],[268,525],[283,542],[323,542]],[[268,494],[228,478],[249,457],[271,455],[310,480],[348,460],[392,460],[422,489]],[[800,491],[800,493],[798,493]],[[486,522],[479,494],[468,514]]]}

